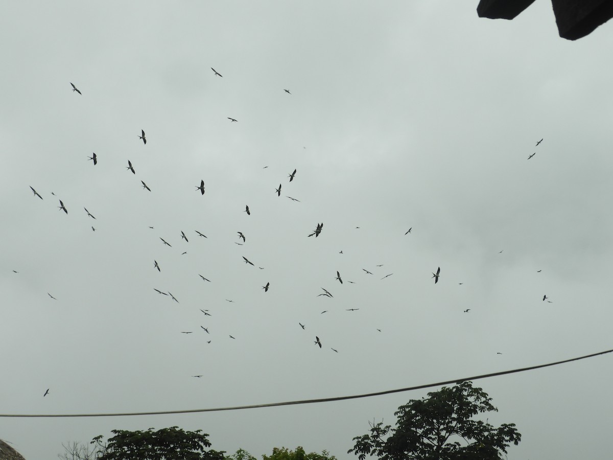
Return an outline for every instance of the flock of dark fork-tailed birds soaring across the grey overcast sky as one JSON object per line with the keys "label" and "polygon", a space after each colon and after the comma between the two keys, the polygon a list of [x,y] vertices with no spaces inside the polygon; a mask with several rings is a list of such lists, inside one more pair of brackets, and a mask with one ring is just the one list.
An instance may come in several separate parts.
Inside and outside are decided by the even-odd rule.
{"label": "flock of dark fork-tailed birds soaring across the grey overcast sky", "polygon": [[[217,72],[215,69],[213,69],[213,67],[211,67],[211,70],[214,72],[214,76],[216,76],[216,77],[223,77],[223,75],[219,74],[219,72]],[[74,85],[74,83],[70,83],[70,85],[72,85],[72,91],[75,91],[78,94],[82,94],[81,91],[78,90],[77,86]],[[292,94],[289,90],[284,89],[284,91],[287,94]],[[227,118],[228,118],[228,120],[230,120],[230,123],[237,123],[238,122],[238,120],[236,120],[235,118],[231,118],[231,117],[227,117]],[[143,145],[147,145],[147,137],[145,136],[145,131],[143,129],[141,129],[140,132],[141,132],[140,136],[137,136],[137,137],[139,137],[139,139],[141,139],[143,141]],[[541,139],[538,142],[536,142],[536,146],[541,144],[541,142],[543,142],[543,139]],[[530,156],[528,156],[528,159],[533,158],[533,156],[535,156],[535,155],[536,155],[536,152],[532,153]],[[96,153],[93,153],[92,156],[89,156],[88,160],[91,160],[93,162],[94,166],[96,166],[97,162],[98,162],[98,158],[97,158]],[[267,167],[268,166],[264,166],[264,168],[267,168]],[[132,162],[130,160],[128,160],[128,166],[126,166],[126,169],[129,172],[132,172],[132,174],[134,174],[134,175],[136,174],[134,166],[132,166]],[[291,183],[294,180],[296,173],[297,173],[297,169],[294,169],[294,171],[292,171],[287,176],[289,178],[289,181],[288,181],[289,183]],[[151,189],[149,188],[147,183],[145,183],[143,180],[140,180],[140,182],[142,183],[143,190],[151,191]],[[41,200],[43,199],[43,197],[36,191],[36,189],[34,189],[34,187],[29,186],[29,188],[34,193],[35,197],[39,197]],[[282,188],[282,184],[281,183],[279,184],[278,187],[275,188],[275,194],[277,196],[281,196],[281,188]],[[204,194],[205,194],[205,183],[204,183],[204,180],[200,180],[200,185],[196,185],[196,191],[200,191],[200,194],[202,196],[204,196]],[[55,196],[55,193],[51,192],[51,194],[53,194]],[[287,198],[291,199],[292,201],[299,202],[299,200],[295,199],[294,197],[287,196]],[[64,202],[61,199],[58,199],[58,201],[59,201],[58,209],[60,211],[63,211],[67,215],[68,214],[68,209],[67,209],[66,205],[64,205]],[[87,217],[91,217],[94,220],[96,219],[96,217],[94,217],[94,215],[92,213],[90,213],[88,209],[86,209],[85,207],[83,207],[83,209],[85,210]],[[248,205],[245,206],[245,210],[243,212],[245,212],[248,216],[251,215],[251,212],[249,210],[249,206]],[[317,223],[316,228],[312,232],[307,234],[307,237],[311,237],[311,236],[314,236],[316,238],[319,237],[319,235],[322,232],[323,227],[324,227],[324,223],[323,222],[322,223]],[[356,228],[359,228],[359,227],[356,227]],[[92,229],[92,231],[96,231],[96,229],[93,226],[91,226],[91,229]],[[153,229],[153,226],[150,226],[150,229]],[[409,228],[408,231],[405,232],[405,236],[408,235],[409,233],[411,233],[412,229],[413,229],[413,227]],[[195,232],[196,232],[196,234],[199,237],[207,238],[207,236],[204,233],[202,233],[200,231],[197,231],[197,230],[195,230]],[[238,234],[238,240],[242,240],[242,242],[245,243],[246,242],[245,234],[243,234],[243,232],[240,232],[240,231],[237,232],[237,234]],[[164,245],[167,245],[168,247],[172,247],[172,245],[170,245],[170,243],[168,243],[162,237],[159,237],[159,239],[161,240],[162,243],[164,243]],[[181,230],[181,239],[185,240],[186,242],[189,242],[188,236],[182,230]],[[243,243],[236,242],[237,245],[242,245]],[[342,254],[342,253],[343,253],[343,251],[340,251],[340,254]],[[502,251],[500,251],[500,253],[502,253]],[[182,254],[186,254],[186,252],[183,252]],[[249,259],[247,259],[245,256],[242,256],[242,258],[243,258],[243,261],[245,262],[245,264],[249,264],[251,266],[255,266],[255,264],[253,262],[249,261]],[[383,264],[378,265],[377,267],[381,267],[381,266],[383,266]],[[160,264],[155,259],[153,261],[153,269],[158,270],[158,272],[161,272]],[[259,267],[259,269],[263,270],[264,267]],[[362,270],[365,272],[365,274],[373,275],[373,272],[370,272],[367,269],[362,269]],[[13,272],[19,273],[17,270],[13,270]],[[541,272],[541,270],[538,270],[538,272]],[[393,273],[387,274],[383,278],[381,278],[381,280],[383,280],[383,279],[385,279],[387,277],[390,277],[392,275],[393,275]],[[202,278],[202,280],[204,282],[209,282],[209,283],[211,282],[211,280],[209,280],[208,278],[204,277],[203,275],[199,274],[199,277]],[[432,272],[432,278],[434,278],[434,284],[438,283],[440,277],[441,277],[441,267],[438,267],[436,269],[436,272]],[[335,280],[337,280],[341,285],[343,284],[343,277],[341,277],[341,274],[340,274],[340,272],[338,270],[337,270],[337,276],[335,277]],[[354,283],[354,282],[349,281],[349,280],[346,280],[346,282]],[[463,283],[459,283],[459,284],[462,285]],[[264,290],[264,293],[267,293],[270,288],[271,288],[270,282],[267,282],[264,286],[262,286],[262,289]],[[172,293],[170,293],[168,291],[164,292],[161,289],[157,289],[157,288],[153,288],[153,289],[154,289],[154,291],[156,291],[156,293],[161,294],[163,296],[168,296],[168,297],[170,297],[170,299],[172,299],[173,301],[175,301],[177,303],[179,302],[177,300],[177,297],[173,296]],[[333,297],[332,293],[330,293],[329,290],[327,290],[326,288],[321,288],[321,289],[324,292],[318,294],[318,296],[325,296],[325,297],[330,297],[330,298]],[[51,297],[51,299],[53,299],[53,300],[58,300],[56,297],[54,297],[50,293],[47,293],[47,295],[49,297]],[[234,302],[232,299],[226,299],[226,301],[227,302]],[[543,301],[551,302],[549,300],[549,297],[547,297],[546,295],[543,296]],[[350,312],[353,312],[353,311],[359,310],[359,308],[351,308],[351,309],[346,309],[346,310],[350,311]],[[466,310],[463,310],[463,312],[464,313],[468,313],[468,312],[470,312],[470,310],[471,309],[466,309]],[[209,310],[200,309],[200,312],[204,313],[205,316],[211,316],[211,313],[209,312]],[[324,311],[321,312],[321,314],[324,314],[324,313],[327,313],[327,312],[328,312],[328,310],[324,310]],[[300,322],[298,324],[299,324],[300,328],[305,330],[305,324],[302,324]],[[208,331],[208,328],[205,328],[204,326],[200,326],[200,328],[202,328],[202,330],[206,334],[210,334],[210,332]],[[381,329],[376,329],[376,330],[381,332]],[[193,331],[181,331],[181,334],[192,334],[192,333],[193,333]],[[232,335],[229,335],[229,338],[236,340],[235,337],[232,336]],[[207,340],[207,343],[211,343],[211,340]],[[319,337],[317,335],[315,336],[314,344],[316,346],[318,346],[319,348],[323,347],[321,339],[319,339]],[[338,350],[336,350],[335,348],[330,347],[330,349],[332,351],[334,351],[335,353],[338,353]],[[498,353],[498,354],[500,355],[501,353]],[[202,375],[192,375],[192,377],[201,378]],[[47,394],[49,394],[49,390],[50,389],[47,389],[43,396],[47,396]]]}

